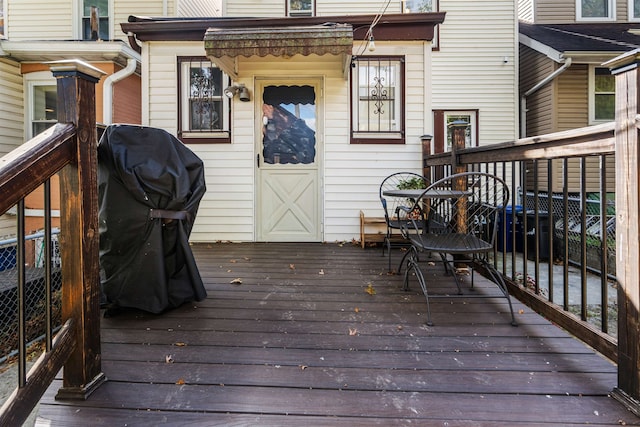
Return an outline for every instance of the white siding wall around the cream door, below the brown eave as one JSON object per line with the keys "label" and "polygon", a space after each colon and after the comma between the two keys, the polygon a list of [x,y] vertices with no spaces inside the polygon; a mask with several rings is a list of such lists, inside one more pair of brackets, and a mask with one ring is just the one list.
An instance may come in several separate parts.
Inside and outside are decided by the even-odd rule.
{"label": "white siding wall around the cream door, below the brown eave", "polygon": [[[357,47],[354,48],[357,50]],[[201,43],[145,43],[143,46],[143,123],[177,131],[176,68],[180,55],[204,55]],[[350,144],[350,86],[342,77],[338,57],[242,58],[239,67],[256,99],[255,79],[319,78],[325,118],[324,150],[319,153],[323,175],[323,218],[326,241],[359,236],[359,211],[379,215],[378,187],[382,179],[399,170],[421,168],[420,135],[429,100],[425,99],[425,63],[431,49],[422,42],[401,47],[377,44],[376,54],[406,55],[405,145]],[[147,64],[145,66],[144,64]],[[428,84],[428,82],[427,82]],[[427,89],[427,92],[430,89]],[[146,101],[148,97],[148,102]],[[191,234],[192,241],[252,241],[255,194],[255,110],[253,102],[234,102],[231,144],[193,144],[189,147],[204,161],[207,193]],[[431,126],[430,117],[427,118]],[[429,127],[430,128],[430,127]],[[428,128],[428,129],[429,129]]]}

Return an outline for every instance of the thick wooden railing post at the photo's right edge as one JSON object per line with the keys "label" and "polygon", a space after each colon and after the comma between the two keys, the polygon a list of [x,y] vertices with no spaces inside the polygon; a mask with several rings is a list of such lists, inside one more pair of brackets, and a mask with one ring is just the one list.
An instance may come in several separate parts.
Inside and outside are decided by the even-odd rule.
{"label": "thick wooden railing post at the photo's right edge", "polygon": [[640,415],[640,174],[638,66],[640,50],[605,65],[616,79],[616,276],[618,386],[612,396]]}

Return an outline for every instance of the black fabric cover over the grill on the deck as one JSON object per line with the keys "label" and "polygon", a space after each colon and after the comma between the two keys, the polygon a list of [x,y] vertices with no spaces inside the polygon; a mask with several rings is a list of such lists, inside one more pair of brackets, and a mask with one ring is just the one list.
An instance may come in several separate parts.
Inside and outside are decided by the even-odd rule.
{"label": "black fabric cover over the grill on the deck", "polygon": [[207,296],[189,246],[202,160],[162,129],[107,127],[98,144],[103,303],[152,313]]}

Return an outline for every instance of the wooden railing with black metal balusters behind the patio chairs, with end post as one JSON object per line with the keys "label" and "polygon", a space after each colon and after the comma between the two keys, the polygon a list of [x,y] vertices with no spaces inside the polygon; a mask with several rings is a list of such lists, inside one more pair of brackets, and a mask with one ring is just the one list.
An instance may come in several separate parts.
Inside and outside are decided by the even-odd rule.
{"label": "wooden railing with black metal balusters behind the patio chairs, with end post", "polygon": [[[533,246],[528,248],[524,244],[523,254],[516,256],[516,226],[511,224],[512,228],[509,230],[507,221],[504,221],[502,236],[511,235],[512,240],[507,241],[506,237],[503,237],[502,249],[494,253],[494,263],[499,270],[502,269],[509,284],[509,291],[513,295],[618,363],[618,387],[613,390],[612,396],[623,402],[636,415],[640,415],[640,352],[637,350],[640,345],[638,64],[638,52],[620,57],[610,64],[612,72],[616,75],[615,122],[474,148],[464,148],[465,128],[454,125],[451,152],[423,153],[424,174],[431,179],[454,172],[480,170],[499,175],[511,183],[511,208],[517,208],[519,203],[522,204],[522,221],[525,223],[522,230],[525,234],[529,230],[526,223],[528,220],[533,221],[534,226],[531,228],[536,230],[536,233],[541,230],[540,205],[541,201],[544,202],[544,220],[548,222],[552,231],[542,240],[535,236]],[[426,147],[428,144],[423,145],[423,150]],[[597,160],[595,165],[594,159]],[[576,161],[579,165],[579,177],[577,184],[574,181],[571,185],[578,190],[577,194],[570,195],[567,190],[570,186],[568,164]],[[593,171],[589,184],[588,162]],[[607,165],[612,167],[608,168]],[[554,177],[554,173],[557,174],[558,171],[561,171],[561,176]],[[607,176],[613,175],[614,172],[615,188],[612,188],[612,185],[607,188]],[[588,208],[585,188],[588,185],[597,187],[595,194],[599,195],[600,201],[598,213],[595,215],[600,217],[600,231],[596,232],[596,235],[599,234],[596,250],[599,251],[600,265],[594,268],[587,265],[586,255],[590,237],[586,232]],[[557,188],[560,190],[554,194]],[[606,203],[607,193],[610,192],[615,192],[614,206],[608,206]],[[576,218],[576,231],[572,231],[573,235],[570,236],[567,206],[570,201],[573,203],[576,200],[579,203],[580,214]],[[613,216],[610,213],[612,209],[615,210],[613,243],[612,239],[607,238],[606,221],[608,215]],[[531,212],[529,219],[528,210]],[[560,225],[556,227],[556,224]],[[556,229],[560,230],[557,239],[554,231]],[[577,262],[572,262],[568,255],[568,242],[571,239],[579,241]],[[557,241],[561,242],[559,248]],[[507,246],[511,246],[511,250],[507,251]],[[548,259],[545,261],[541,260],[541,246],[547,246],[545,251]],[[615,258],[615,266],[608,265],[610,254]],[[534,261],[532,275],[526,270],[528,259]],[[559,274],[562,284],[559,293],[563,295],[555,300],[554,270],[558,264],[562,269],[562,273]],[[541,273],[541,266],[545,267],[545,274]],[[582,282],[577,310],[572,310],[569,304],[570,267],[573,269],[572,274]],[[524,273],[521,269],[524,269]],[[595,289],[600,297],[600,312],[595,323],[591,322],[593,313],[588,312],[587,308],[587,295],[590,292],[587,276],[591,275],[592,270],[599,273],[599,285]],[[611,286],[612,281],[615,286]],[[547,283],[546,287],[541,286],[541,282]],[[610,324],[612,316],[609,312],[609,288],[615,288],[611,293],[617,296],[617,303],[614,304],[617,316],[614,313],[613,325]]]}

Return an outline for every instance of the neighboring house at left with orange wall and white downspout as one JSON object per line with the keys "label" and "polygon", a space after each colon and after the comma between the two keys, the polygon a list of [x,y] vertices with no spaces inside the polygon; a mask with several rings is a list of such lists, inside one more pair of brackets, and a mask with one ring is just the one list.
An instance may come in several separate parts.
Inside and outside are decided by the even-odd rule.
{"label": "neighboring house at left with orange wall and white downspout", "polygon": [[[218,11],[216,2],[206,0],[0,0],[0,155],[56,123],[56,82],[48,62],[77,59],[102,70],[96,122],[139,124],[140,53],[131,48],[119,23],[131,14]],[[27,215],[35,216],[34,224],[27,224],[30,232],[38,228],[42,199],[30,197],[26,204]],[[0,237],[13,234],[14,222],[0,219]]]}

